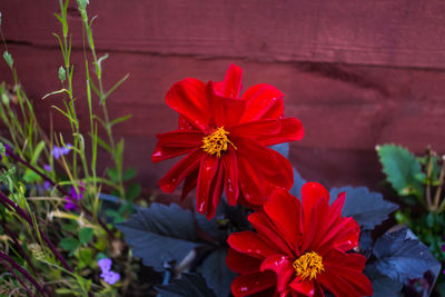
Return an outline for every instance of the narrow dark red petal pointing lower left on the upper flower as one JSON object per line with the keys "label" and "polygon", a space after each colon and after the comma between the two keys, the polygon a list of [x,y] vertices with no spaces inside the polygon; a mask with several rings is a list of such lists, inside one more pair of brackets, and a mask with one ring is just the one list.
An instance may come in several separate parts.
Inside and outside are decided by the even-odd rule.
{"label": "narrow dark red petal pointing lower left on the upper flower", "polygon": [[201,149],[189,152],[159,180],[159,187],[166,192],[172,192],[184,178],[198,168],[202,154]]}

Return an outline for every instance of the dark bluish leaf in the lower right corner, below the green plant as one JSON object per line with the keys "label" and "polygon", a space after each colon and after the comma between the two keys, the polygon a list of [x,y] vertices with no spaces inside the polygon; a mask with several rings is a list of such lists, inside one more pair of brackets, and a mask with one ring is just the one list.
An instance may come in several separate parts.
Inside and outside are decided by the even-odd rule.
{"label": "dark bluish leaf in the lower right corner, below the green plant", "polygon": [[423,277],[428,270],[437,276],[441,270],[441,263],[408,228],[384,234],[376,240],[373,254],[379,273],[403,284]]}

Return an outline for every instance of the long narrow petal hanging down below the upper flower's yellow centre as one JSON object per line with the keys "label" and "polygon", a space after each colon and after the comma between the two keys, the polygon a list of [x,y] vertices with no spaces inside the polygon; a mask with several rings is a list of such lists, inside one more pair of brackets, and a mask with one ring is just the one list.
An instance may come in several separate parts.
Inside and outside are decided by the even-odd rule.
{"label": "long narrow petal hanging down below the upper flower's yellow centre", "polygon": [[196,209],[199,214],[207,212],[210,199],[210,186],[219,167],[219,158],[205,154],[199,165]]}

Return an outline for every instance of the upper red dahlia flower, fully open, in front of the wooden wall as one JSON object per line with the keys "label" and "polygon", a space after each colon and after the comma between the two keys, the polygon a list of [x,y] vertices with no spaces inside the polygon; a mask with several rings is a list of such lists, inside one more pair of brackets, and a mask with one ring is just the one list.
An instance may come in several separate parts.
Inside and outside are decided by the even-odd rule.
{"label": "upper red dahlia flower, fully open, in front of the wooden wall", "polygon": [[182,198],[197,187],[197,209],[215,215],[222,189],[230,205],[260,206],[276,187],[290,189],[289,161],[267,146],[299,140],[303,126],[283,118],[283,93],[269,85],[239,98],[243,70],[231,65],[221,82],[187,78],[167,92],[179,116],[177,130],[158,135],[154,162],[186,155],[159,180],[172,192],[185,180]]}

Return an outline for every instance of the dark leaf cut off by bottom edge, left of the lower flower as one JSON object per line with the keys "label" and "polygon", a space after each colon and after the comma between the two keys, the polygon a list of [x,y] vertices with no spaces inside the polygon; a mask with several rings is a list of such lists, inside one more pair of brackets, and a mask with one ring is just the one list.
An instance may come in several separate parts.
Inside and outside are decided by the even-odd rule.
{"label": "dark leaf cut off by bottom edge, left of the lower flower", "polygon": [[174,279],[172,284],[158,286],[162,297],[216,297],[207,287],[206,280],[198,274],[182,274],[181,278]]}

